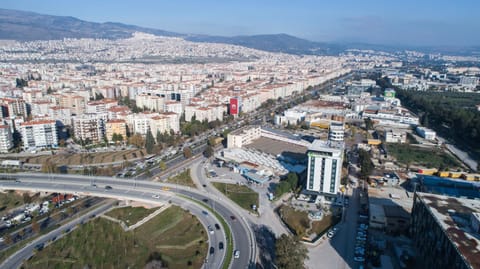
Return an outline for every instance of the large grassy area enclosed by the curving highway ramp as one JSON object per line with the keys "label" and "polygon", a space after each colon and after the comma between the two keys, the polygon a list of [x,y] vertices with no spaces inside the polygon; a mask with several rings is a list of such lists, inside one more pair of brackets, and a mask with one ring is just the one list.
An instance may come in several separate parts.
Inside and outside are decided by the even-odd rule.
{"label": "large grassy area enclosed by the curving highway ramp", "polygon": [[144,268],[161,259],[168,268],[200,268],[208,238],[198,219],[172,206],[124,232],[97,218],[58,239],[23,264],[24,268]]}

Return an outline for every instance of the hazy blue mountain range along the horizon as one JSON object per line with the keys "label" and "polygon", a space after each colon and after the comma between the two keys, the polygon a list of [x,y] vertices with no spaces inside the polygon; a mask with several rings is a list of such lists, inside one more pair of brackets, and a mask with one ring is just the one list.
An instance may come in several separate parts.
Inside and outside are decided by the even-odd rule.
{"label": "hazy blue mountain range along the horizon", "polygon": [[[458,48],[399,48],[361,43],[340,44],[315,42],[287,34],[232,37],[181,34],[117,22],[97,23],[68,16],[52,16],[27,11],[0,9],[0,40],[33,41],[58,40],[63,38],[121,39],[131,37],[134,32],[144,32],[157,36],[181,37],[193,42],[233,44],[264,51],[290,54],[338,55],[346,49],[352,48],[390,52],[403,49],[414,49],[424,52],[446,52],[448,50],[459,52]],[[463,52],[472,51],[478,53],[479,48],[463,48]]]}

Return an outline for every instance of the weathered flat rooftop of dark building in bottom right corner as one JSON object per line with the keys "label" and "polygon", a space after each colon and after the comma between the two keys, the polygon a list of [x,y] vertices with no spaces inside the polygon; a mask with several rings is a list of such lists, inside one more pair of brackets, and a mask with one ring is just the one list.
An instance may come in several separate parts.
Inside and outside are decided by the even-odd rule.
{"label": "weathered flat rooftop of dark building in bottom right corner", "polygon": [[480,235],[471,229],[469,221],[472,213],[480,212],[480,201],[430,193],[417,192],[417,195],[429,206],[463,258],[472,268],[480,268]]}

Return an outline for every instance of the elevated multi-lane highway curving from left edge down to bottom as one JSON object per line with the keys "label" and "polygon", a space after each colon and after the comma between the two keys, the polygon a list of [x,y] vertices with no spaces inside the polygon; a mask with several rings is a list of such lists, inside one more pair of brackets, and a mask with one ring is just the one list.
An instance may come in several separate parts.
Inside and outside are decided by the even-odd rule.
{"label": "elevated multi-lane highway curving from left edge down to bottom", "polygon": [[[117,179],[109,177],[88,177],[88,176],[75,176],[75,175],[61,175],[61,174],[0,174],[3,177],[10,177],[12,180],[1,181],[0,187],[2,189],[19,189],[19,190],[32,190],[32,191],[50,191],[50,192],[65,192],[75,193],[78,195],[107,197],[114,199],[127,199],[143,201],[148,203],[166,203],[170,201],[173,204],[180,205],[189,209],[192,214],[199,217],[204,225],[211,225],[219,223],[212,214],[204,214],[204,208],[198,204],[189,201],[181,196],[175,195],[182,194],[191,199],[203,201],[208,199],[210,202],[213,197],[209,197],[204,193],[192,189],[189,187],[178,186],[174,184],[156,183],[150,181],[138,181],[132,179]],[[18,181],[15,182],[13,178]],[[97,187],[93,187],[95,184]],[[105,186],[111,186],[112,189],[106,190]],[[164,191],[162,188],[168,187],[169,191]],[[152,196],[157,194],[160,199],[153,198]],[[233,240],[234,249],[240,250],[240,258],[233,259],[231,268],[249,268],[251,264],[254,264],[251,257],[252,240],[249,235],[250,230],[247,227],[247,223],[233,213],[231,208],[224,205],[222,201],[215,202],[214,210],[219,213],[230,225]],[[238,217],[235,221],[231,219],[231,216]],[[221,235],[221,236],[220,236]],[[218,243],[220,241],[226,242],[225,234],[215,231],[214,236],[210,238],[211,245],[215,248],[215,255],[208,255],[207,264],[205,268],[220,268],[224,255],[218,250]]]}

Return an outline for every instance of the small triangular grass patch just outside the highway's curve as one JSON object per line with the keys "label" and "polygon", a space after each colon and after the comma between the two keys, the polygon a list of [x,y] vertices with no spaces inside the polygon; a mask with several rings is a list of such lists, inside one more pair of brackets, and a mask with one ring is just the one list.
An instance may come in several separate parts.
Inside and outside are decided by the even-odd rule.
{"label": "small triangular grass patch just outside the highway's curve", "polygon": [[242,208],[252,211],[252,205],[258,206],[258,193],[245,185],[228,184],[221,182],[212,183],[215,188],[221,191],[225,196],[237,203]]}

